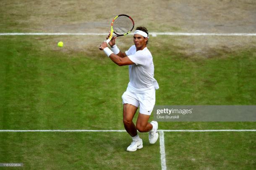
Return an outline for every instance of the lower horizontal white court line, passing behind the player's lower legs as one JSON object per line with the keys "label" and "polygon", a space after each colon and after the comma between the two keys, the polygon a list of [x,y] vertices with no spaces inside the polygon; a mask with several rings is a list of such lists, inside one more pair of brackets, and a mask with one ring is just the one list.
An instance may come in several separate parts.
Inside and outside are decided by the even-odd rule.
{"label": "lower horizontal white court line, passing behind the player's lower legs", "polygon": [[[256,129],[158,130],[163,132],[256,132]],[[125,130],[0,130],[0,132],[126,132]]]}

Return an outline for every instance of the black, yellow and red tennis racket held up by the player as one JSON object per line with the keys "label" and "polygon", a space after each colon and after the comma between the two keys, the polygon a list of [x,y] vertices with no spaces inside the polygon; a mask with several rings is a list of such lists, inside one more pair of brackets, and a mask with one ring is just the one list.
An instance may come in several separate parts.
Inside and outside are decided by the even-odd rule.
{"label": "black, yellow and red tennis racket held up by the player", "polygon": [[134,28],[134,21],[131,17],[125,14],[117,15],[111,23],[111,31],[110,31],[110,37],[107,39],[107,43],[110,42],[110,40],[113,37],[119,37],[119,36],[125,36],[128,33],[131,33],[131,31]]}

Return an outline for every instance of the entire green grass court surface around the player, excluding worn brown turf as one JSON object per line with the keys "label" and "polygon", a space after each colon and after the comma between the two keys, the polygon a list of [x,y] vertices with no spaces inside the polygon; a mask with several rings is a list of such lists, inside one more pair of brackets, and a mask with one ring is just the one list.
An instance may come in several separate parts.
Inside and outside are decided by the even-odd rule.
{"label": "entire green grass court surface around the player, excluding worn brown turf", "polygon": [[[53,45],[56,39],[0,37],[0,129],[124,129],[121,95],[128,67],[116,66],[97,47],[69,46],[76,38],[67,37],[64,48]],[[160,86],[157,105],[256,104],[253,49],[187,58],[161,44],[168,39],[149,45]],[[159,129],[256,129],[256,124],[159,122]],[[24,169],[161,169],[159,141],[149,145],[147,134],[140,136],[144,148],[128,153],[131,139],[125,132],[1,132],[0,162],[24,162]],[[166,132],[167,168],[253,169],[255,142],[255,132]]]}

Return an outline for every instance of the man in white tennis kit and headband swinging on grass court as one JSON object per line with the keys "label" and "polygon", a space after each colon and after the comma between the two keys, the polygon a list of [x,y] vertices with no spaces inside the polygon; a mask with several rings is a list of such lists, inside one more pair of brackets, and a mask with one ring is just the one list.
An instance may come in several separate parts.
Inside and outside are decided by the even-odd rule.
{"label": "man in white tennis kit and headband swinging on grass court", "polygon": [[[142,139],[138,136],[137,130],[139,132],[149,132],[149,143],[151,144],[157,142],[158,139],[157,122],[148,122],[155,104],[155,89],[159,89],[157,81],[154,79],[152,54],[146,46],[148,38],[148,30],[145,27],[137,27],[133,35],[134,45],[125,53],[121,52],[116,46],[116,37],[109,42],[111,50],[107,47],[106,42],[100,45],[100,49],[118,66],[129,65],[130,82],[122,96],[123,124],[133,140],[127,148],[129,152],[143,147]],[[135,126],[133,117],[138,107],[139,115]]]}

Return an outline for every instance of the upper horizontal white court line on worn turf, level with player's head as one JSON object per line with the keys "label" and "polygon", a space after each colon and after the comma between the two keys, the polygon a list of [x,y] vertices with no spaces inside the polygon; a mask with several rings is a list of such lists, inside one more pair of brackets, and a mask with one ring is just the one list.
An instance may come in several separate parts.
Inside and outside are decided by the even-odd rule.
{"label": "upper horizontal white court line on worn turf, level with player's head", "polygon": [[[0,36],[106,36],[107,33],[0,33]],[[133,33],[128,34],[133,35]],[[176,32],[152,32],[149,35],[166,36],[256,36],[256,33],[176,33]]]}

